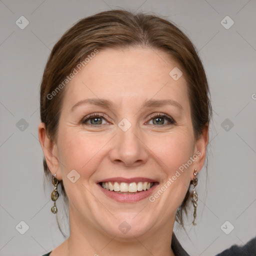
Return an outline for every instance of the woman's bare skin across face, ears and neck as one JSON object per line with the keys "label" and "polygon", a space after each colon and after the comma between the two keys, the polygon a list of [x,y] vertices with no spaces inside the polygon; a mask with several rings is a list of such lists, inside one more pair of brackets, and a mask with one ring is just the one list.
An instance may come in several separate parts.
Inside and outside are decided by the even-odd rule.
{"label": "woman's bare skin across face, ears and neck", "polygon": [[[184,76],[176,81],[169,76],[176,66],[181,69],[166,53],[155,49],[101,50],[66,85],[55,141],[47,137],[44,124],[39,124],[47,165],[63,180],[69,200],[70,236],[51,256],[84,252],[174,255],[170,243],[175,212],[194,169],[199,172],[203,166],[208,143],[207,125],[199,139],[194,139],[186,81]],[[87,98],[108,99],[113,105],[80,104],[70,110]],[[172,99],[182,109],[170,104],[142,107],[149,99]],[[96,119],[102,123],[94,126],[88,125],[93,118],[82,124],[91,113],[106,118]],[[172,117],[175,123],[160,118],[157,124],[159,113]],[[127,131],[118,127],[123,118],[131,123]],[[160,188],[196,151],[200,156],[154,202],[148,198],[116,202],[95,183],[108,177],[142,176],[158,180]],[[74,183],[66,177],[72,169],[80,175]],[[131,226],[125,234],[118,229],[123,221]]]}

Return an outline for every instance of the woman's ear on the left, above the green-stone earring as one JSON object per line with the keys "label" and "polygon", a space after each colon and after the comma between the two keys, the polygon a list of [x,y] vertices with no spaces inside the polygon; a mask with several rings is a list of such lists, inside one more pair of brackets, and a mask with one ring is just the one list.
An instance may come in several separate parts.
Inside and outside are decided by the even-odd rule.
{"label": "woman's ear on the left, above the green-stone earring", "polygon": [[62,178],[57,155],[57,145],[47,136],[45,124],[43,122],[40,122],[38,125],[38,137],[51,174],[54,175],[56,173],[56,178],[61,180]]}

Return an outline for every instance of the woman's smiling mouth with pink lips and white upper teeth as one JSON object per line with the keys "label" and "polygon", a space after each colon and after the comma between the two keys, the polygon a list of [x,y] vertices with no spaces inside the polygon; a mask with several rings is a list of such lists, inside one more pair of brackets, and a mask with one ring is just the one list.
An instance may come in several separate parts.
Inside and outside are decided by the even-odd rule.
{"label": "woman's smiling mouth with pink lips and white upper teeth", "polygon": [[148,197],[159,184],[156,180],[115,177],[97,182],[101,191],[118,202],[136,202]]}

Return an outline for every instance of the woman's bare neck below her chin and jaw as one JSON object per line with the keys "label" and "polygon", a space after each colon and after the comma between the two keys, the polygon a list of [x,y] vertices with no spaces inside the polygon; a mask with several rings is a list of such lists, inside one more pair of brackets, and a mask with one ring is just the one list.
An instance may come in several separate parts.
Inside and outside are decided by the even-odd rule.
{"label": "woman's bare neck below her chin and jaw", "polygon": [[95,256],[117,256],[120,253],[123,256],[175,256],[170,246],[174,217],[164,226],[152,228],[146,234],[121,238],[111,236],[93,226],[93,223],[73,216],[72,211],[69,211],[70,235],[65,246],[68,256],[84,255],[84,252]]}

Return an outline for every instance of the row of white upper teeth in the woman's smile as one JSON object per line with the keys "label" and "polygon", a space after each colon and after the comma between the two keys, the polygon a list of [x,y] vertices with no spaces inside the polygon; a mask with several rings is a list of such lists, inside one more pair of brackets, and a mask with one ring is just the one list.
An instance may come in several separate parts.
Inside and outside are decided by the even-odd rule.
{"label": "row of white upper teeth in the woman's smile", "polygon": [[136,191],[142,191],[149,189],[153,185],[152,182],[132,182],[132,183],[126,183],[126,182],[102,182],[101,186],[107,190],[114,190],[114,191],[120,191],[120,192],[136,192]]}

